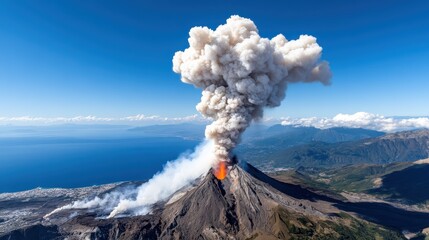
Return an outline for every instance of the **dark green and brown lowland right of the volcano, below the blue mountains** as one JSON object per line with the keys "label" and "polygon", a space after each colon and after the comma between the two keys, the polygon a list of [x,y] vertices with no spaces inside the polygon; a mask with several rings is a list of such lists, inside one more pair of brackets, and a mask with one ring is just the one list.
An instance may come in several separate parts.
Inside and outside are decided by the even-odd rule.
{"label": "dark green and brown lowland right of the volcano, below the blue mountains", "polygon": [[337,199],[344,198],[341,192],[353,192],[421,207],[429,202],[429,192],[422,191],[429,187],[429,164],[359,164],[330,170],[299,168],[270,175]]}

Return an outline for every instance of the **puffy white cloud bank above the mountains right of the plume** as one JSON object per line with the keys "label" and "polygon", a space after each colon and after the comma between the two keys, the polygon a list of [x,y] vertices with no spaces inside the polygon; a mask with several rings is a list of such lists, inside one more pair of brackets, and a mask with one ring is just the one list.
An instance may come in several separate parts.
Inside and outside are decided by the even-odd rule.
{"label": "puffy white cloud bank above the mountains right of the plume", "polygon": [[357,112],[354,114],[338,114],[333,118],[284,118],[282,125],[305,126],[315,128],[350,127],[366,128],[384,132],[396,132],[416,128],[429,128],[429,118],[393,118],[378,114]]}

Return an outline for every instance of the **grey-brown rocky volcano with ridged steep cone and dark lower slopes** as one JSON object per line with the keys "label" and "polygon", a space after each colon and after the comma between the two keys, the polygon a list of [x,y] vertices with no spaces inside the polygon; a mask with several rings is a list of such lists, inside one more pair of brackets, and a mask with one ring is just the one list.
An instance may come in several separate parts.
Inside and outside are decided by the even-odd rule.
{"label": "grey-brown rocky volcano with ridged steep cone and dark lower slopes", "polygon": [[18,229],[0,239],[402,239],[397,232],[340,210],[326,194],[277,181],[250,164],[210,171],[144,216],[100,218],[82,212]]}

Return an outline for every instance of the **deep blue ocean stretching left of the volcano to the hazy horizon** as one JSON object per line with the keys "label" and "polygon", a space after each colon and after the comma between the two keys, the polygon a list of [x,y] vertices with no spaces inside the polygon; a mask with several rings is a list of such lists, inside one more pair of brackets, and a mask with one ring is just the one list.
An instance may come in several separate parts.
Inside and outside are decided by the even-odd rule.
{"label": "deep blue ocean stretching left of the volcano to the hazy horizon", "polygon": [[59,135],[0,137],[0,193],[147,180],[200,142],[120,131]]}

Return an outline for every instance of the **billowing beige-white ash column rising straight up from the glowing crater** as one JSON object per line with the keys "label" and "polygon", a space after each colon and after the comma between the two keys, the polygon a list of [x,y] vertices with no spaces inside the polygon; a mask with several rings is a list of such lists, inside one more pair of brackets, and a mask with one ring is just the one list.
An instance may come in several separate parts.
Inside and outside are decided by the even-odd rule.
{"label": "billowing beige-white ash column rising straight up from the glowing crater", "polygon": [[331,78],[328,63],[320,61],[322,48],[309,35],[262,38],[250,19],[239,16],[216,30],[194,27],[189,35],[189,48],[176,52],[173,70],[203,90],[197,110],[213,119],[206,137],[214,140],[218,160],[229,159],[264,107],[280,105],[289,83],[329,84]]}

